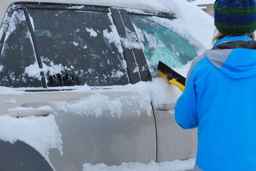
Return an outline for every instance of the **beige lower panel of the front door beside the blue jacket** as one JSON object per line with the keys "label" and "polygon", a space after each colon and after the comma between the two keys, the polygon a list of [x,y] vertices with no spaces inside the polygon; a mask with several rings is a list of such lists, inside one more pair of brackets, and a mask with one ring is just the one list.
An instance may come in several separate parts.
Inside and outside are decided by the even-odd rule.
{"label": "beige lower panel of the front door beside the blue jacket", "polygon": [[175,116],[154,107],[157,127],[157,162],[195,158],[197,129],[183,130],[175,122]]}

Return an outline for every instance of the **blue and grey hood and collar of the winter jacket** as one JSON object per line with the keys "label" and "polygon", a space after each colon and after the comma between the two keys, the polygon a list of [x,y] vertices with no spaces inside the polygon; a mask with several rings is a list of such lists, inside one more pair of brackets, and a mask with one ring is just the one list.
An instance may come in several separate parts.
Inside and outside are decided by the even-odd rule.
{"label": "blue and grey hood and collar of the winter jacket", "polygon": [[256,75],[256,41],[248,36],[226,37],[205,52],[208,60],[230,78]]}

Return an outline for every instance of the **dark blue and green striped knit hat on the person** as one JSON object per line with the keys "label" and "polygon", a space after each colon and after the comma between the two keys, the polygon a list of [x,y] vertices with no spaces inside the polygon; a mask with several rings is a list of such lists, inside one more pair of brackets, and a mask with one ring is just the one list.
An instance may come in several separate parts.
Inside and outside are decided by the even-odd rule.
{"label": "dark blue and green striped knit hat on the person", "polygon": [[256,30],[256,0],[216,0],[214,20],[221,33],[252,33]]}

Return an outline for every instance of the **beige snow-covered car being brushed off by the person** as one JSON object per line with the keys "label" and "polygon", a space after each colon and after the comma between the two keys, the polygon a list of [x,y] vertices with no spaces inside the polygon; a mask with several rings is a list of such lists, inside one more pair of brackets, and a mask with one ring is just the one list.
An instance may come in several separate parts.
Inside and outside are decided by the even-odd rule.
{"label": "beige snow-covered car being brushed off by the person", "polygon": [[197,130],[173,115],[182,92],[157,64],[186,76],[212,20],[154,2],[0,1],[1,171],[195,158]]}

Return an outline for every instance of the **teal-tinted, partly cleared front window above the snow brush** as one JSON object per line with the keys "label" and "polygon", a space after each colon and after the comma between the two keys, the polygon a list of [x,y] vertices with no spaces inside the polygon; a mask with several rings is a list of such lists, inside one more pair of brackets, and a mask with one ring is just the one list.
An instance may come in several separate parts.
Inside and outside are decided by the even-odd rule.
{"label": "teal-tinted, partly cleared front window above the snow brush", "polygon": [[181,67],[197,56],[195,46],[190,45],[189,41],[160,24],[161,21],[169,19],[134,14],[131,14],[130,18],[144,46],[145,56],[154,71],[157,70],[159,61],[169,67]]}

